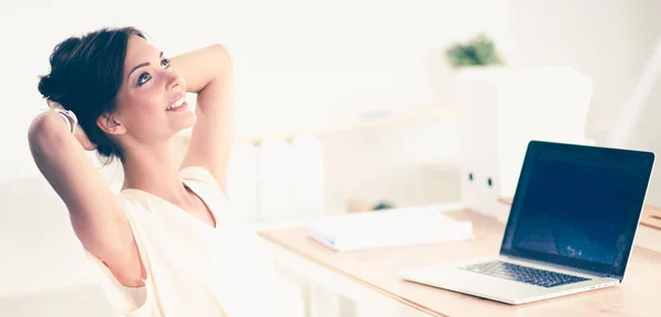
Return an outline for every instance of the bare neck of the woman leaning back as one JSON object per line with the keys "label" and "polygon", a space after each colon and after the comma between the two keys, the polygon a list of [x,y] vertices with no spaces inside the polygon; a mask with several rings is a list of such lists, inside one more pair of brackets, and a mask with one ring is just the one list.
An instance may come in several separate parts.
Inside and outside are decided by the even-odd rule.
{"label": "bare neck of the woman leaning back", "polygon": [[124,153],[122,189],[136,188],[170,201],[183,201],[186,188],[173,162],[170,143],[131,147]]}

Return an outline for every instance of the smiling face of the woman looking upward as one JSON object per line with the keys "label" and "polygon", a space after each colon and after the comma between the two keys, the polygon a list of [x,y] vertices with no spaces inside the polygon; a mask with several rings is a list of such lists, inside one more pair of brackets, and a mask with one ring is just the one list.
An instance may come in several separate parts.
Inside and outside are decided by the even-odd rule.
{"label": "smiling face of the woman looking upward", "polygon": [[113,113],[123,125],[121,138],[154,144],[195,124],[195,112],[187,102],[181,103],[186,97],[184,78],[147,40],[129,39],[123,76]]}

